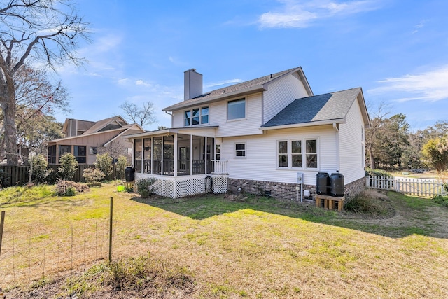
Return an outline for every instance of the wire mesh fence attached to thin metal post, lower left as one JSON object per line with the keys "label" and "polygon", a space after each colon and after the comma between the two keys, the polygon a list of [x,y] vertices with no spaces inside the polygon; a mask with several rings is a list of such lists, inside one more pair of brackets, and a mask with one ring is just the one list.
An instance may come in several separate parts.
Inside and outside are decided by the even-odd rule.
{"label": "wire mesh fence attached to thin metal post, lower left", "polygon": [[[109,255],[109,219],[67,221],[57,228],[29,222],[27,229],[3,232],[0,286],[31,285],[57,278]],[[113,232],[112,232],[113,235]]]}

